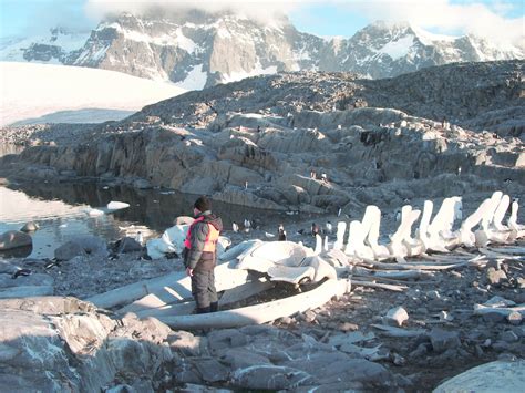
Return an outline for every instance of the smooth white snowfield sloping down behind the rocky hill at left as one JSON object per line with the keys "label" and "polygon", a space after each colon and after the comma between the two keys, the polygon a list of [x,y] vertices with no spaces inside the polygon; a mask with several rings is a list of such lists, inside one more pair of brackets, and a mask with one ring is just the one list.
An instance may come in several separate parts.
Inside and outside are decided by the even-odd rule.
{"label": "smooth white snowfield sloping down behind the rocky hill at left", "polygon": [[0,62],[0,126],[100,123],[182,94],[173,83],[106,70]]}

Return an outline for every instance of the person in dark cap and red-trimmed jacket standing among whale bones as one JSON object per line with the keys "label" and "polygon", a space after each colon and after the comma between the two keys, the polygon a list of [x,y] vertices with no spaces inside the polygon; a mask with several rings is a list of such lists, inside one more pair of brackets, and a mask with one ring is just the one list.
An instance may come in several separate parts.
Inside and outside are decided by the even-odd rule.
{"label": "person in dark cap and red-trimmed jacket standing among whale bones", "polygon": [[217,261],[216,246],[223,220],[212,213],[212,201],[200,196],[194,204],[195,220],[184,240],[184,266],[192,278],[192,294],[197,313],[218,310],[214,269]]}

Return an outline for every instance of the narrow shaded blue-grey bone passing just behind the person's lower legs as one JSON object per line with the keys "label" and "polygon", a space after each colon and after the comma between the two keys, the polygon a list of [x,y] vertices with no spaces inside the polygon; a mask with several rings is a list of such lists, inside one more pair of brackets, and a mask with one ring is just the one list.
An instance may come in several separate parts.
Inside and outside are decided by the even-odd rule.
{"label": "narrow shaded blue-grey bone passing just behind the person's lower legs", "polygon": [[[255,280],[243,283],[238,287],[224,291],[223,296],[219,298],[219,307],[222,308],[224,306],[247,299],[254,294],[264,292],[274,287],[274,282],[262,280]],[[136,316],[138,318],[187,316],[191,314],[195,309],[195,301],[186,301],[183,303],[163,304],[158,308],[144,309],[137,311]]]}

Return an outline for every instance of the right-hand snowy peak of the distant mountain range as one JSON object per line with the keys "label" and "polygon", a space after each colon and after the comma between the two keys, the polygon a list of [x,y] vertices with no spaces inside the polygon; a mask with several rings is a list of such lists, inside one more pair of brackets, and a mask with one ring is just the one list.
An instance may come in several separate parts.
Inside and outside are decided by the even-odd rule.
{"label": "right-hand snowy peak of the distant mountain range", "polygon": [[380,79],[432,65],[524,58],[524,48],[501,48],[475,35],[453,38],[431,34],[409,23],[375,22],[349,40],[331,40],[319,69]]}

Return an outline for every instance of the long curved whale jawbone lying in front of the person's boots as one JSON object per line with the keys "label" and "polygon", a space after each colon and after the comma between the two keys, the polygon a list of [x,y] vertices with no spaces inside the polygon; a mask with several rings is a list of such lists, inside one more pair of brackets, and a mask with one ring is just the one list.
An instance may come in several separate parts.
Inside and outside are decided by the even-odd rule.
{"label": "long curved whale jawbone lying in front of the person's boots", "polygon": [[172,329],[179,330],[224,329],[259,324],[289,317],[296,312],[316,309],[330,301],[332,297],[342,296],[348,291],[350,291],[349,281],[327,280],[311,291],[262,304],[195,316],[161,317],[158,319]]}

